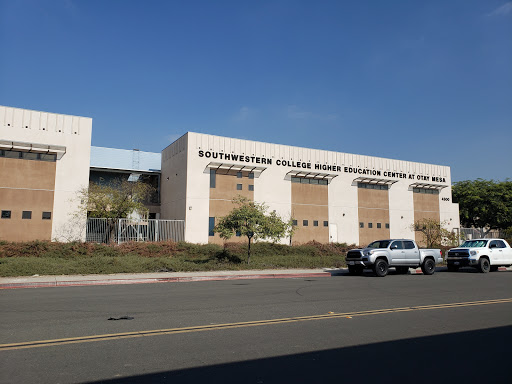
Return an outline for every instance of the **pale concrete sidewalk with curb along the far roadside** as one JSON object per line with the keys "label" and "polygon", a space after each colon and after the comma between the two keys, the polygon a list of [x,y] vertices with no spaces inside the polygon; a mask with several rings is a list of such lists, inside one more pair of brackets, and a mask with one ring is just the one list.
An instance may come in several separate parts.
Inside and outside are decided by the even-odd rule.
{"label": "pale concrete sidewalk with curb along the far roadside", "polygon": [[[512,267],[500,267],[500,271],[512,271]],[[437,267],[437,271],[446,271],[446,267]],[[84,285],[117,285],[149,283],[183,283],[190,281],[242,280],[242,279],[290,279],[305,277],[331,277],[348,274],[346,268],[323,269],[266,269],[250,271],[212,271],[212,272],[157,272],[157,273],[119,273],[114,275],[59,275],[1,277],[0,289],[73,287]],[[409,274],[422,274],[421,269],[409,269]]]}

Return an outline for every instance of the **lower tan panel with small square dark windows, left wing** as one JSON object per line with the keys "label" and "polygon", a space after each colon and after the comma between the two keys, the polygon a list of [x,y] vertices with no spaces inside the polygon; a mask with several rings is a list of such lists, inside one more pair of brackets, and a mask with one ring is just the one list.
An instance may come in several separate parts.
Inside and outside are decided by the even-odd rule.
{"label": "lower tan panel with small square dark windows, left wing", "polygon": [[[53,191],[0,188],[0,209],[11,211],[10,219],[0,219],[0,240],[51,240],[53,197]],[[32,219],[22,219],[22,211],[32,211]],[[52,220],[43,220],[43,211]]]}

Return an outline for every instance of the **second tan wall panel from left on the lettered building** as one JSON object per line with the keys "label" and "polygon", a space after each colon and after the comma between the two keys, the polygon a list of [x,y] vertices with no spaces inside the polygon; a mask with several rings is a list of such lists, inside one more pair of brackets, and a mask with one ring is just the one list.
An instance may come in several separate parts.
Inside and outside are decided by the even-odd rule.
{"label": "second tan wall panel from left on the lettered building", "polygon": [[[298,224],[292,243],[303,244],[312,240],[328,243],[329,227],[324,227],[324,221],[329,221],[328,186],[291,183],[291,188],[292,217]],[[307,227],[303,226],[303,220],[308,220]],[[313,225],[315,220],[318,221],[318,227]]]}

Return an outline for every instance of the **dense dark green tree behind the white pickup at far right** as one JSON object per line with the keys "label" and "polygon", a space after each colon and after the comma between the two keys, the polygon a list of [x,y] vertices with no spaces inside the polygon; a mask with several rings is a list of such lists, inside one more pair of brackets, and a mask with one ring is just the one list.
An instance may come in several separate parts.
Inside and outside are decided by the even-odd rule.
{"label": "dense dark green tree behind the white pickup at far right", "polygon": [[506,229],[512,226],[512,181],[466,180],[452,187],[464,227]]}

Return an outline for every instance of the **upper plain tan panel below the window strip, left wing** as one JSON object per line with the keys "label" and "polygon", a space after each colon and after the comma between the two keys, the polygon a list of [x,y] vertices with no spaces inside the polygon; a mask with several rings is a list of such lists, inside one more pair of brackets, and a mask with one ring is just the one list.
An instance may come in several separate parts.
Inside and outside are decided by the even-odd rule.
{"label": "upper plain tan panel below the window strip, left wing", "polygon": [[56,164],[0,157],[0,187],[54,190]]}

